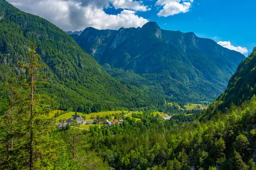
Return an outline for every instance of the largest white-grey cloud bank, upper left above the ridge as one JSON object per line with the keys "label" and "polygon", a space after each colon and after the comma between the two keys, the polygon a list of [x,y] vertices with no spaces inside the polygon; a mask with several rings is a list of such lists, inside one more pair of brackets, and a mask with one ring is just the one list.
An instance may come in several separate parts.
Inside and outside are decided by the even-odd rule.
{"label": "largest white-grey cloud bank, upper left above the ridge", "polygon": [[[143,9],[140,7],[143,6],[142,4],[128,1],[135,6],[126,8]],[[108,6],[109,0],[9,0],[9,2],[22,11],[49,20],[64,31],[83,30],[89,26],[98,29],[130,28],[143,26],[148,22],[147,19],[139,17],[136,11],[126,9],[116,15],[106,14],[103,9]]]}

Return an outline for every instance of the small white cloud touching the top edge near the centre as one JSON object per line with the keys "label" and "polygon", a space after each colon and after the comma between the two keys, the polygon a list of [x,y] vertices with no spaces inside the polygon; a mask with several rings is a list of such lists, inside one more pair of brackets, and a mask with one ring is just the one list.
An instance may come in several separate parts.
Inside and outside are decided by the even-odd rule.
{"label": "small white cloud touching the top edge near the centre", "polygon": [[110,2],[113,4],[113,6],[118,9],[132,9],[135,11],[148,11],[151,10],[151,8],[148,8],[148,6],[144,6],[142,1],[134,1],[134,0],[110,0]]}

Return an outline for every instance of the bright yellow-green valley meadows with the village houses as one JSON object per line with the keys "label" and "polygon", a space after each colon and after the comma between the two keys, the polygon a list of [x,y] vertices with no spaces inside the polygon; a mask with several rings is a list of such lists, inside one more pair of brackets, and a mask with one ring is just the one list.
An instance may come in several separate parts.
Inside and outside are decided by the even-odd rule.
{"label": "bright yellow-green valley meadows with the village houses", "polygon": [[[166,105],[167,102],[165,101]],[[172,103],[171,103],[172,104]],[[168,104],[169,105],[169,104]],[[200,104],[190,104],[189,110],[197,110],[197,106]],[[203,108],[203,107],[202,107]],[[205,108],[204,108],[205,109]],[[88,130],[90,126],[97,125],[98,127],[102,127],[103,125],[108,125],[111,127],[115,124],[123,124],[127,119],[133,118],[136,121],[141,121],[138,116],[142,114],[141,111],[101,111],[98,113],[77,113],[77,112],[68,112],[68,111],[59,111],[56,110],[52,116],[56,118],[56,128],[61,129],[66,127],[67,125],[76,125],[78,128]],[[168,115],[165,112],[154,111],[151,114],[156,116],[157,114],[163,119],[168,120],[172,117],[172,115]],[[192,114],[192,113],[191,113]],[[189,116],[191,114],[187,114],[185,116]],[[136,116],[137,115],[137,116]]]}

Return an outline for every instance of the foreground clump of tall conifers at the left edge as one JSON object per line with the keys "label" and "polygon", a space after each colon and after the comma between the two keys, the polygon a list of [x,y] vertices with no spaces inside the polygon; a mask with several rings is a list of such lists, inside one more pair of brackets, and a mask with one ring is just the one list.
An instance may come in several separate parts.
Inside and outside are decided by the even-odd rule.
{"label": "foreground clump of tall conifers at the left edge", "polygon": [[49,117],[53,98],[36,91],[38,86],[47,85],[42,81],[46,77],[38,74],[38,69],[45,65],[39,62],[41,58],[34,45],[30,46],[28,56],[28,62],[18,63],[20,71],[26,75],[17,82],[15,78],[9,81],[9,108],[3,116],[5,119],[1,119],[1,122],[8,122],[1,123],[5,132],[3,141],[6,141],[6,152],[1,156],[5,160],[0,162],[3,169],[49,169],[51,159],[56,157],[50,135],[54,124]]}

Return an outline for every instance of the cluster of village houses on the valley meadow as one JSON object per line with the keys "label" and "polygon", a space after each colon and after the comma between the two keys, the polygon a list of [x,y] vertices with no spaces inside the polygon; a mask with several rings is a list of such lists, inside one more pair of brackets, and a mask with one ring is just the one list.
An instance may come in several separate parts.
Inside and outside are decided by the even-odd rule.
{"label": "cluster of village houses on the valley meadow", "polygon": [[[91,117],[91,119],[96,119],[96,117]],[[81,117],[81,116],[72,116],[71,118],[69,119],[61,119],[61,123],[59,123],[57,126],[58,128],[62,128],[62,127],[66,127],[68,124],[70,124],[72,122],[72,120],[76,121],[79,125],[90,125],[90,124],[93,124],[94,121],[84,121],[84,119]],[[111,126],[111,125],[114,125],[114,124],[119,124],[122,122],[120,122],[119,120],[117,119],[114,119],[113,122],[110,122],[108,121],[108,119],[104,118],[104,119],[99,119],[98,122],[96,122],[96,124],[102,124],[103,122],[107,122],[107,125]]]}

